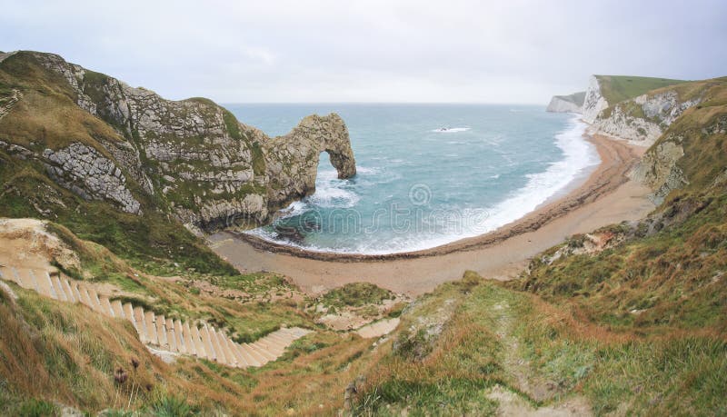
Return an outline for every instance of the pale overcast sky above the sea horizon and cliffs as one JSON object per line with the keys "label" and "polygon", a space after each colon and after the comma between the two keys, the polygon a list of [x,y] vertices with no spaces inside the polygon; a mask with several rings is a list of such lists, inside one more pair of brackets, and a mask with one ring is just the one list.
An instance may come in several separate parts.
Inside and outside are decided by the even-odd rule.
{"label": "pale overcast sky above the sea horizon and cliffs", "polygon": [[727,75],[727,1],[0,0],[0,50],[170,99],[547,104],[590,74]]}

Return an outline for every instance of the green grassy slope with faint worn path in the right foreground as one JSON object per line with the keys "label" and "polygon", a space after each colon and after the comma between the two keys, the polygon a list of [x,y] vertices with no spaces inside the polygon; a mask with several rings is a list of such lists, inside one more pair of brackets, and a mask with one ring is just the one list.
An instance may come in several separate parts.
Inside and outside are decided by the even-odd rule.
{"label": "green grassy slope with faint worn path in the right foreground", "polygon": [[443,286],[403,314],[405,321],[419,321],[444,300],[460,299],[422,358],[399,354],[395,343],[388,348],[366,375],[358,413],[491,415],[497,402],[486,394],[494,385],[533,407],[584,396],[596,415],[725,410],[727,342],[717,335],[610,333],[499,283],[456,294]]}

